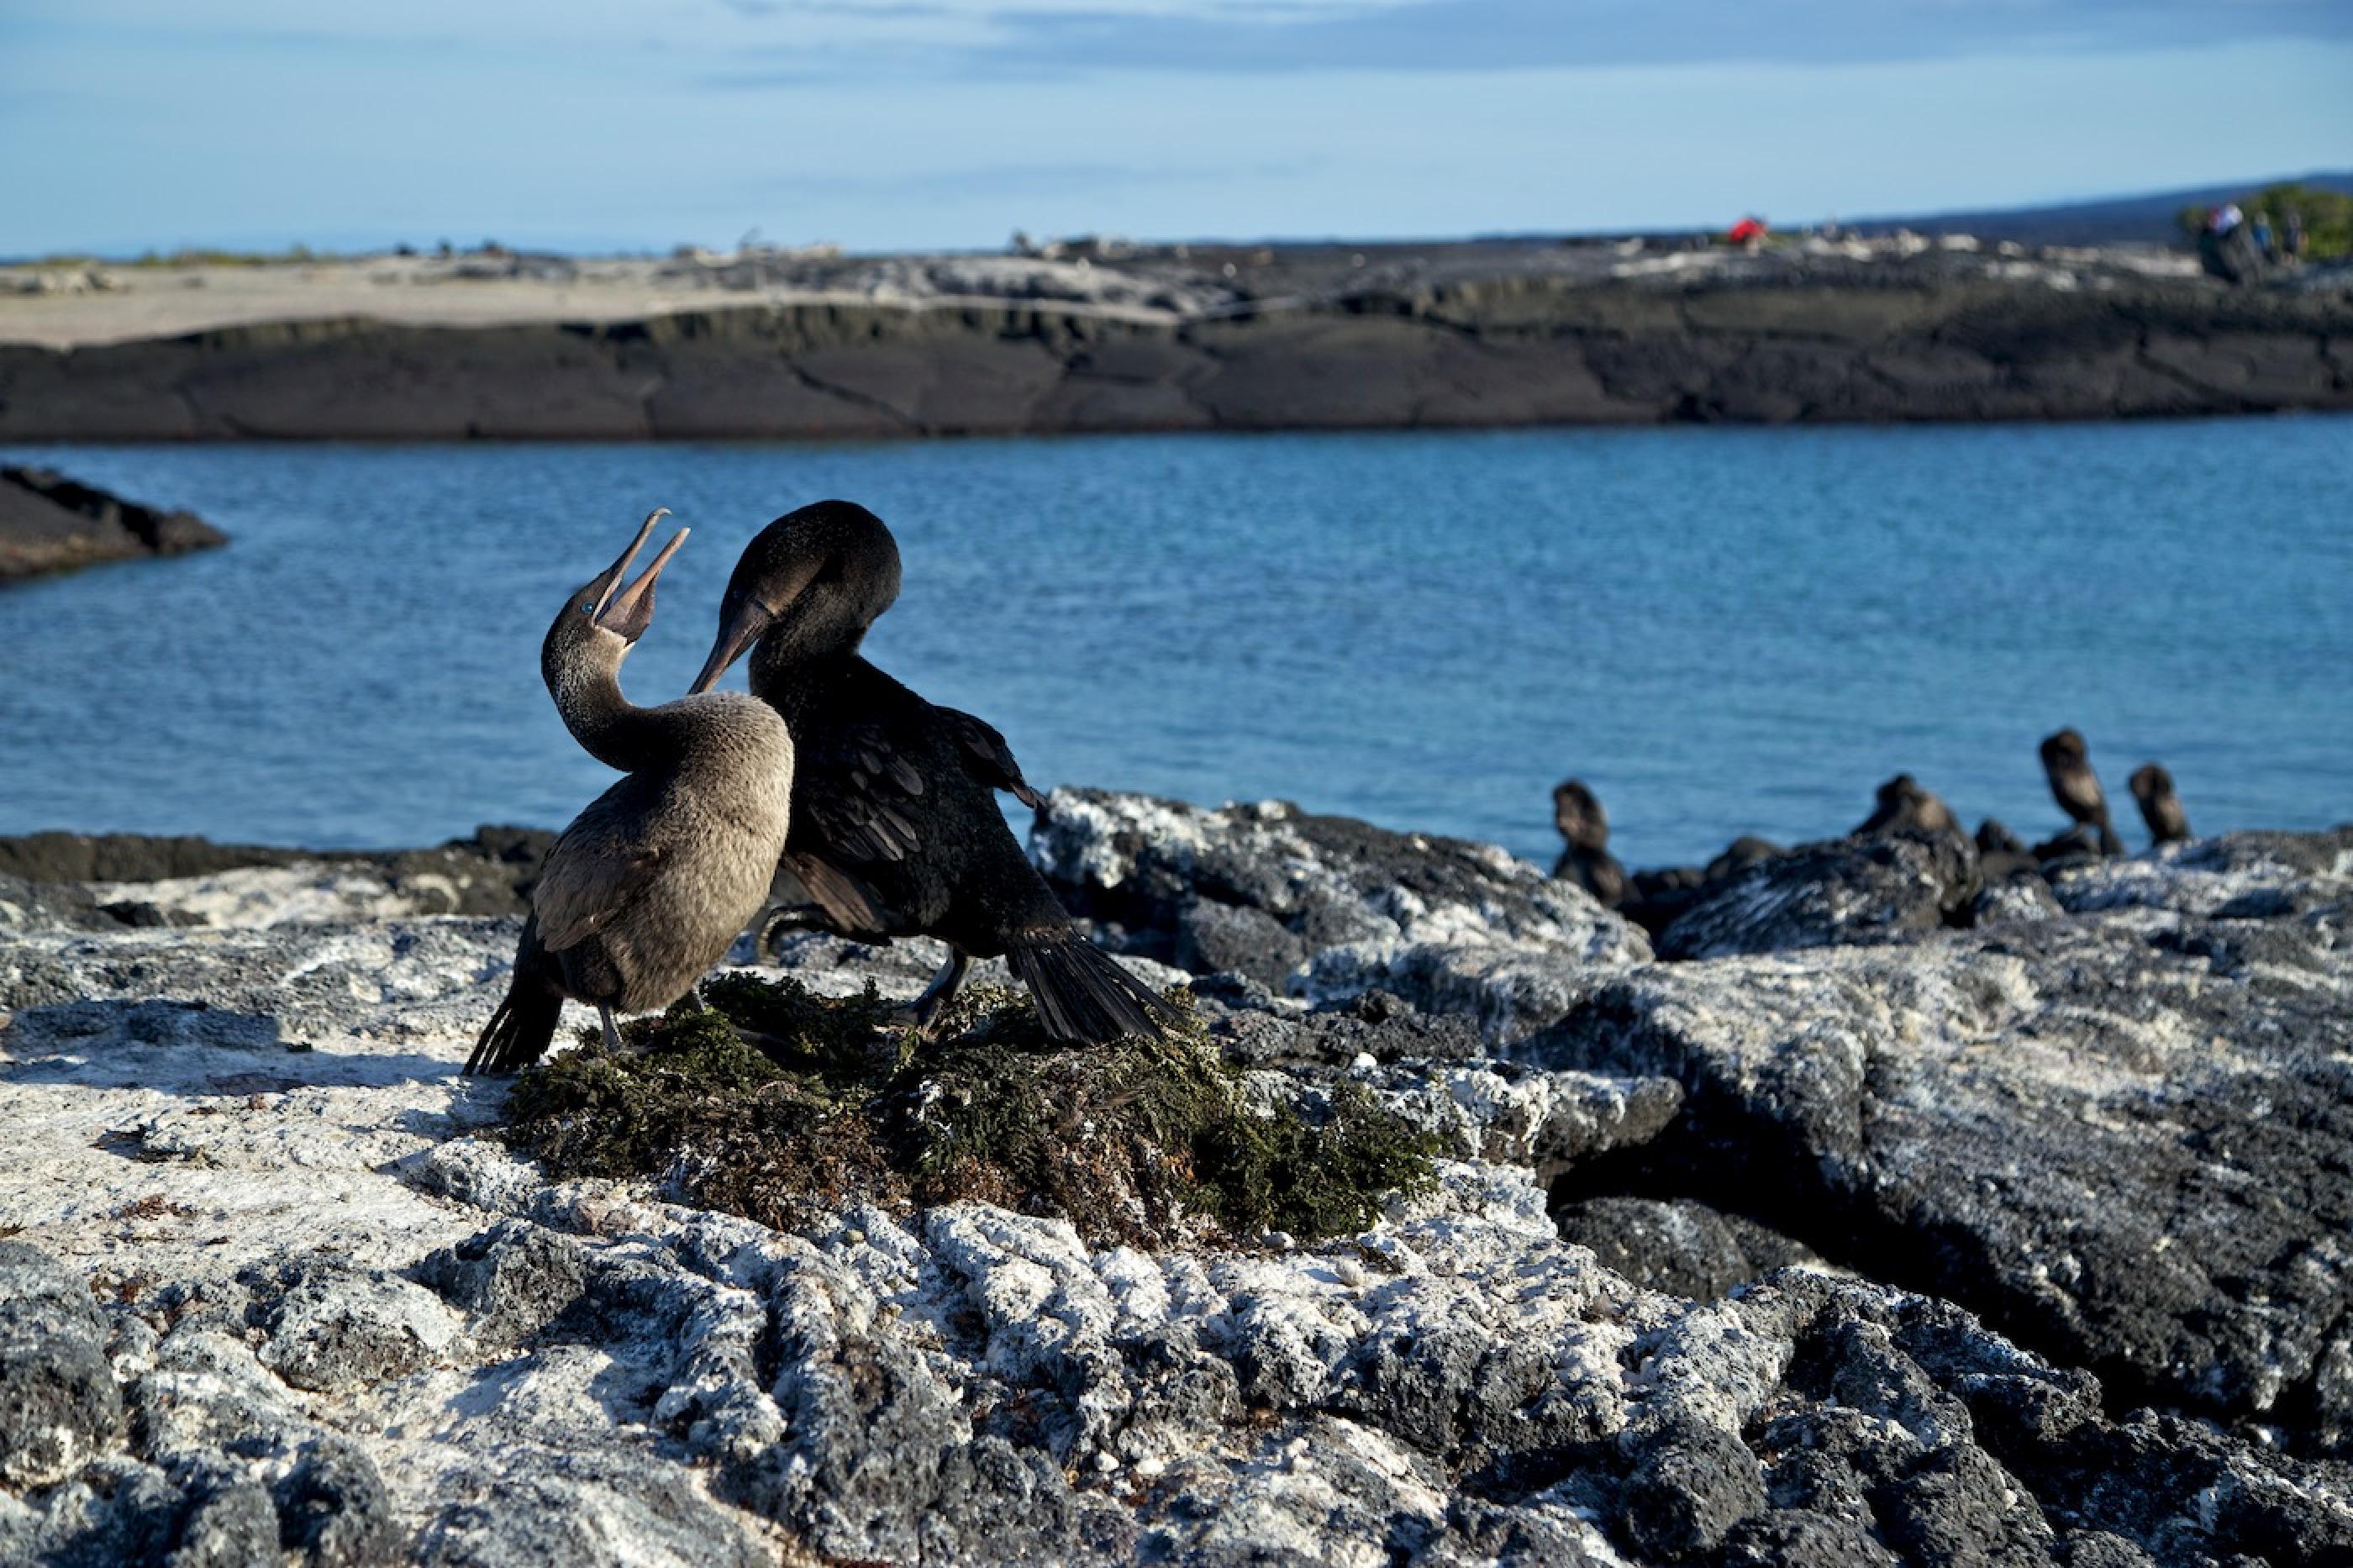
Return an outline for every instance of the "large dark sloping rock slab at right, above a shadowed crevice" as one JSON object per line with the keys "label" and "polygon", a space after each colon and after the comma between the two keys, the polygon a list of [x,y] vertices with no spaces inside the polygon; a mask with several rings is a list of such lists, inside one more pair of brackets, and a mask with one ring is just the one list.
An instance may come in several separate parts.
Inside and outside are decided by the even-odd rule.
{"label": "large dark sloping rock slab at right, above a shadowed crevice", "polygon": [[1678,1078],[1657,1168],[1701,1196],[2346,1453],[2348,869],[2344,833],[2104,862],[2061,881],[2087,913],[1638,970],[1522,1055]]}

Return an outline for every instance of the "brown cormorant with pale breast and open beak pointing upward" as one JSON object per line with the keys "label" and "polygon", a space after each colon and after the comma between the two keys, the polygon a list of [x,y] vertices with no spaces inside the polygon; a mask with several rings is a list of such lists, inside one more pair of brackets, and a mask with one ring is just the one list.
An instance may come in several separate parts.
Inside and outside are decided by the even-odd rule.
{"label": "brown cormorant with pale breast and open beak pointing upward", "polygon": [[678,530],[638,582],[619,586],[661,516],[565,600],[539,647],[539,673],[572,739],[628,777],[548,850],[515,977],[468,1074],[536,1062],[565,996],[593,1005],[605,1043],[619,1048],[612,1015],[685,996],[767,899],[793,793],[784,720],[739,692],[659,709],[621,695],[621,659],[654,622],[654,579],[687,537]]}

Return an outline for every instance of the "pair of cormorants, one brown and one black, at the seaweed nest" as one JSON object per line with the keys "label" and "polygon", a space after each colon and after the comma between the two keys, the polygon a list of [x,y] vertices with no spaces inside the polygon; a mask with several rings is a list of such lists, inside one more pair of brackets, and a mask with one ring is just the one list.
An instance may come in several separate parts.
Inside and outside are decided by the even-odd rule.
{"label": "pair of cormorants, one brown and one black, at the seaweed nest", "polygon": [[[656,709],[621,695],[621,659],[654,619],[673,537],[626,589],[666,516],[565,600],[541,678],[572,737],[626,777],[548,852],[506,1001],[466,1071],[536,1062],[569,996],[619,1048],[616,1012],[685,996],[753,930],[854,942],[939,937],[948,961],[906,1022],[927,1026],[972,958],[1007,961],[1047,1034],[1160,1034],[1167,1003],[1087,942],[1031,866],[998,791],[1040,805],[988,723],[925,702],[859,643],[899,598],[882,518],[819,501],[762,527],[736,560],[694,687]],[[711,690],[751,652],[751,695]]]}

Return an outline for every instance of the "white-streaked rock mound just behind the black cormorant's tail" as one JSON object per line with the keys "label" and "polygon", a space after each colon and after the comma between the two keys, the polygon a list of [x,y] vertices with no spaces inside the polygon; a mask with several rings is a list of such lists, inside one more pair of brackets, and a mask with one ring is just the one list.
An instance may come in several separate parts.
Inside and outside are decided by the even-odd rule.
{"label": "white-streaked rock mound just behind the black cormorant's tail", "polygon": [[1287,800],[1205,810],[1056,789],[1031,855],[1129,951],[1238,972],[1308,1001],[1391,991],[1529,1034],[1649,939],[1588,892],[1504,850],[1315,817]]}

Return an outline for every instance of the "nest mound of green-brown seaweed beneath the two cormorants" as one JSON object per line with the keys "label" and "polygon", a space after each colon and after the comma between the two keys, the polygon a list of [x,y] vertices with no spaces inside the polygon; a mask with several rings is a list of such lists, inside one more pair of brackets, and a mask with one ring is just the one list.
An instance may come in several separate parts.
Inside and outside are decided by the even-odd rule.
{"label": "nest mound of green-brown seaweed beneath the two cormorants", "polygon": [[720,975],[704,996],[626,1024],[621,1052],[588,1034],[525,1071],[506,1140],[553,1177],[659,1177],[781,1229],[981,1198],[1136,1245],[1348,1234],[1433,1180],[1435,1142],[1360,1085],[1252,1097],[1186,991],[1169,1038],[1075,1050],[998,986],[967,986],[929,1038],[871,986]]}

